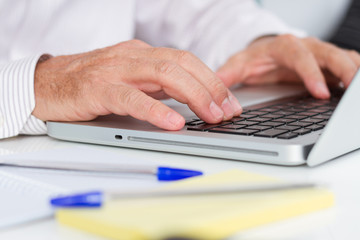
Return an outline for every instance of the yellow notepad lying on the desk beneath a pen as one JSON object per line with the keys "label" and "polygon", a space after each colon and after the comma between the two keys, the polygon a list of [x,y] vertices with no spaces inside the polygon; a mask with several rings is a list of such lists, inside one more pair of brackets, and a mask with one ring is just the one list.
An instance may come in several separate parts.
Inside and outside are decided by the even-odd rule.
{"label": "yellow notepad lying on the desk beneath a pen", "polygon": [[[182,188],[276,181],[232,170],[165,186]],[[58,221],[111,239],[221,239],[241,230],[333,205],[333,195],[309,188],[257,193],[126,199],[101,209],[60,209]]]}

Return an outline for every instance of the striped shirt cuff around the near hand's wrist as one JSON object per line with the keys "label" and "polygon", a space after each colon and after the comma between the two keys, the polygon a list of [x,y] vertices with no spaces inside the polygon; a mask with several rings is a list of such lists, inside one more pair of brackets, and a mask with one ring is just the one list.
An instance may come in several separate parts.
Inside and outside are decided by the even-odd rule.
{"label": "striped shirt cuff around the near hand's wrist", "polygon": [[0,139],[19,134],[45,134],[46,125],[32,116],[34,72],[41,55],[0,66]]}

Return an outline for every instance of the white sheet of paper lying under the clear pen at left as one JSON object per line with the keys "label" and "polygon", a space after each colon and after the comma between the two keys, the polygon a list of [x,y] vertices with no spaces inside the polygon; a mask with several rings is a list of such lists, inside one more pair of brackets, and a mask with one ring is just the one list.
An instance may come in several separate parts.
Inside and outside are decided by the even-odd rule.
{"label": "white sheet of paper lying under the clear pen at left", "polygon": [[[103,148],[106,149],[106,148]],[[93,146],[55,147],[34,152],[0,156],[2,160],[76,161],[154,165],[153,161],[134,158]],[[50,195],[98,189],[141,189],[161,185],[153,176],[137,174],[97,174],[43,170],[0,165],[0,228],[53,216]]]}

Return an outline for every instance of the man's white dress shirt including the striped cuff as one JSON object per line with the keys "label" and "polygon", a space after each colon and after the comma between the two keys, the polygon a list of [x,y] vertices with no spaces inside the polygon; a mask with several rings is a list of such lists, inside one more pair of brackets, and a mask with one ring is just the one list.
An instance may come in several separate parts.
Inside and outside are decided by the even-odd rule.
{"label": "man's white dress shirt including the striped cuff", "polygon": [[254,39],[298,32],[252,0],[0,0],[0,138],[44,134],[35,107],[41,55],[131,39],[188,50],[212,69]]}

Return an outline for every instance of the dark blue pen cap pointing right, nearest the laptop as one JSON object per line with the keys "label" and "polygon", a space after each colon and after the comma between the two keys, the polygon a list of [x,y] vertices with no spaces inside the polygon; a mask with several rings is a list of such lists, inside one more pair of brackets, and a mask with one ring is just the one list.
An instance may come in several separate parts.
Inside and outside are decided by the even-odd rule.
{"label": "dark blue pen cap pointing right, nearest the laptop", "polygon": [[157,172],[157,178],[160,181],[180,180],[200,175],[202,175],[202,172],[200,171],[169,167],[159,167]]}

